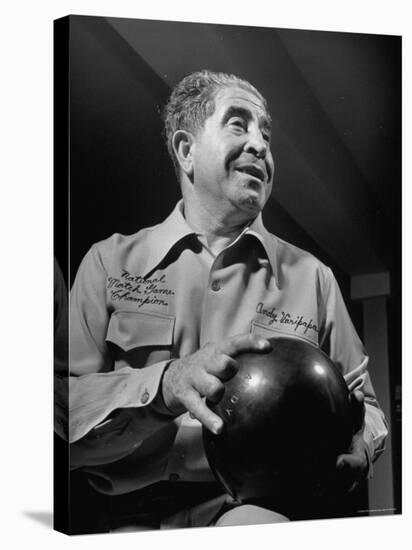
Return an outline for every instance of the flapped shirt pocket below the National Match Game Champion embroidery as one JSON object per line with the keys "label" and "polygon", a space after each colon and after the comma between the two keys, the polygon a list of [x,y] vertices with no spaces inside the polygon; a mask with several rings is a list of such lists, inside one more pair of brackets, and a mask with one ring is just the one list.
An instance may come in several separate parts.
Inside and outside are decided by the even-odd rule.
{"label": "flapped shirt pocket below the National Match Game Champion embroidery", "polygon": [[106,342],[112,348],[115,369],[143,368],[172,356],[175,317],[157,313],[113,312]]}

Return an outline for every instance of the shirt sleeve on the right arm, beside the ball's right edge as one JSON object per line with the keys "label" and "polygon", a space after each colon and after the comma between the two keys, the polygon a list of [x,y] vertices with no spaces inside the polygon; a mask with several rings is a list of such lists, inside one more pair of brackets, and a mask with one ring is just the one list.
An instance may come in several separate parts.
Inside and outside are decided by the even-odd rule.
{"label": "shirt sleeve on the right arm, beside the ball's right edge", "polygon": [[372,475],[372,462],[385,447],[388,434],[384,414],[376,399],[368,372],[369,357],[349,317],[339,286],[326,268],[324,285],[324,322],[320,346],[340,368],[349,390],[358,389],[365,397],[364,439]]}

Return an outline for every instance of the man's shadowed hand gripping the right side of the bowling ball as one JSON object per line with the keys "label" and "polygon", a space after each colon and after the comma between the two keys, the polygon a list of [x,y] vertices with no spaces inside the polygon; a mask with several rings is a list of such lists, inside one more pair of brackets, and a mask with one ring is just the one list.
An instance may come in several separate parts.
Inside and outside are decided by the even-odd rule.
{"label": "man's shadowed hand gripping the right side of the bowling ball", "polygon": [[350,394],[352,405],[354,434],[348,452],[339,455],[336,460],[339,486],[344,492],[351,493],[366,479],[369,469],[369,460],[366,443],[363,438],[365,426],[365,405],[363,393],[354,390]]}

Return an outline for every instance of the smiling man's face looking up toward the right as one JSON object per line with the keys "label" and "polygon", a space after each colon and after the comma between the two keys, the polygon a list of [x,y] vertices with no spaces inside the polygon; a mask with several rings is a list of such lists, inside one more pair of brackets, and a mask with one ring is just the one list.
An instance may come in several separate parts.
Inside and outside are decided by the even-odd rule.
{"label": "smiling man's face looking up toward the right", "polygon": [[255,217],[269,198],[274,163],[270,125],[257,96],[221,89],[215,111],[195,136],[193,182],[206,208],[239,220]]}

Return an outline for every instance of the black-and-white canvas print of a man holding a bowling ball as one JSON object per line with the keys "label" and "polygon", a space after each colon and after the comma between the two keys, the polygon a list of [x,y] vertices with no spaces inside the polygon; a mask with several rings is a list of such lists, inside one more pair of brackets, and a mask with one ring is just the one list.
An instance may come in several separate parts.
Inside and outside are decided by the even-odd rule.
{"label": "black-and-white canvas print of a man holding a bowling ball", "polygon": [[55,528],[401,513],[401,38],[54,34]]}

